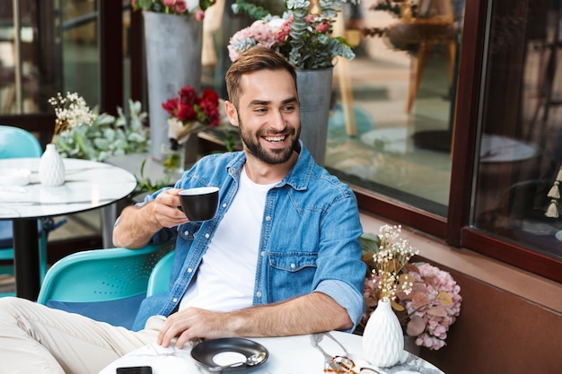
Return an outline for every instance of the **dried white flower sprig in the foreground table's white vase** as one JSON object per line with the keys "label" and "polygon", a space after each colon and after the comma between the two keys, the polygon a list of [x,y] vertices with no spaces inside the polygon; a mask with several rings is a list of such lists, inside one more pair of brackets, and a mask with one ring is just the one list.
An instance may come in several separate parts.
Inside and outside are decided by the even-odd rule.
{"label": "dried white flower sprig in the foreground table's white vase", "polygon": [[409,294],[414,285],[411,275],[400,274],[400,270],[418,251],[407,239],[400,239],[401,226],[383,225],[379,238],[379,250],[373,255],[374,280],[381,290],[381,300],[393,301],[397,292]]}

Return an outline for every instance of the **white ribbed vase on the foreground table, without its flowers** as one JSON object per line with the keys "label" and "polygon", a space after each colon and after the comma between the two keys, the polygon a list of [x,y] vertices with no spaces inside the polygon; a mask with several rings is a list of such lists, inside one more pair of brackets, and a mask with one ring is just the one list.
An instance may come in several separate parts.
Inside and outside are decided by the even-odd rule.
{"label": "white ribbed vase on the foreground table, without its flowers", "polygon": [[379,368],[396,365],[404,351],[404,335],[390,301],[380,300],[363,333],[364,359]]}

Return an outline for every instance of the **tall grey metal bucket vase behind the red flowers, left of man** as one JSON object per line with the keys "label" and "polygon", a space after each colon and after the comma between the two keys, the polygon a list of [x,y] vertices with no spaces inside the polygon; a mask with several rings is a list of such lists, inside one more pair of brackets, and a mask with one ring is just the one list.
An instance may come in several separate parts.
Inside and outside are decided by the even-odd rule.
{"label": "tall grey metal bucket vase behind the red flowers, left of man", "polygon": [[162,144],[168,144],[168,113],[162,102],[178,96],[183,86],[201,89],[203,23],[193,17],[145,12],[146,75],[150,147],[162,161]]}

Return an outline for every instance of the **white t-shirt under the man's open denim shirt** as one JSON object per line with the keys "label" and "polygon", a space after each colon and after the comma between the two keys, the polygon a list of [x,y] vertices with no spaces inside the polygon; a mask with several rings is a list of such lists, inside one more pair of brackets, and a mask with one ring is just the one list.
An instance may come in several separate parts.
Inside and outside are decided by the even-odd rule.
{"label": "white t-shirt under the man's open denim shirt", "polygon": [[214,311],[248,308],[256,282],[261,221],[272,185],[258,185],[241,171],[240,188],[224,213],[180,309]]}

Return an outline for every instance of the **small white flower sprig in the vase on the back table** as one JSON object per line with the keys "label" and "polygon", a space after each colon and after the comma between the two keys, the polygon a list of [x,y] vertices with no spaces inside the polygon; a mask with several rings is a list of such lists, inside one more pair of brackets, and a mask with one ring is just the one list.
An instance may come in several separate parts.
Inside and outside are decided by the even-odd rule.
{"label": "small white flower sprig in the vase on the back table", "polygon": [[55,108],[55,115],[57,116],[53,139],[56,135],[68,131],[74,126],[91,126],[96,118],[96,115],[86,104],[86,100],[75,92],[66,92],[66,96],[58,92],[56,97],[48,99],[48,103]]}

